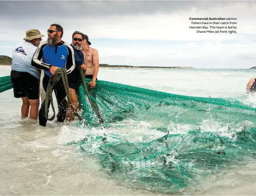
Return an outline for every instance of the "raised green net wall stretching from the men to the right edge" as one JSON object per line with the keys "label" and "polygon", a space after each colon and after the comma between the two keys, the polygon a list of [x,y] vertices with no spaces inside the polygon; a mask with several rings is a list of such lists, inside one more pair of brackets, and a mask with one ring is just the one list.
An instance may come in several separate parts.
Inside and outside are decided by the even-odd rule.
{"label": "raised green net wall stretching from the men to the right edge", "polygon": [[[89,81],[86,79],[86,82]],[[198,128],[203,120],[236,124],[255,122],[256,116],[254,107],[235,99],[182,96],[108,81],[97,81],[96,88],[88,89],[88,92],[106,123],[144,121],[151,128],[166,130],[170,122]],[[99,124],[82,85],[78,98],[86,123]]]}

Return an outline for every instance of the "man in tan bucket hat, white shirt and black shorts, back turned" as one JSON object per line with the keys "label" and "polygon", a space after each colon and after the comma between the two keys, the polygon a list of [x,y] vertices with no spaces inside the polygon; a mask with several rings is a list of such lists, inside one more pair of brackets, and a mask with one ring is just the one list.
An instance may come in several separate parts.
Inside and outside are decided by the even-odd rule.
{"label": "man in tan bucket hat, white shirt and black shorts, back turned", "polygon": [[44,35],[37,29],[26,31],[25,41],[13,49],[11,66],[14,97],[22,98],[21,115],[35,120],[38,118],[40,71],[31,65],[31,60],[42,37]]}

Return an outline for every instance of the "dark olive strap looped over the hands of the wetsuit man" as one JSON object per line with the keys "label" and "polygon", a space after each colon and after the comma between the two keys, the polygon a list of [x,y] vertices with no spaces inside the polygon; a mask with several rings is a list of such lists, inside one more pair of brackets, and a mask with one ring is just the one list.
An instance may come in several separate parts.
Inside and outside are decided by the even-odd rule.
{"label": "dark olive strap looped over the hands of the wetsuit man", "polygon": [[[60,74],[59,74],[60,73]],[[55,109],[53,106],[53,99],[52,99],[52,87],[54,84],[59,82],[62,79],[64,89],[67,95],[67,100],[70,103],[70,106],[74,112],[74,114],[79,118],[80,121],[83,120],[83,118],[74,110],[74,107],[71,104],[70,94],[69,94],[69,87],[68,87],[68,81],[67,81],[67,71],[64,68],[58,68],[54,75],[51,75],[51,78],[48,82],[47,90],[46,90],[46,96],[45,96],[45,116],[48,120],[52,121],[55,118]],[[51,118],[48,118],[48,103],[49,100],[51,101],[51,108],[53,110],[53,116]]]}

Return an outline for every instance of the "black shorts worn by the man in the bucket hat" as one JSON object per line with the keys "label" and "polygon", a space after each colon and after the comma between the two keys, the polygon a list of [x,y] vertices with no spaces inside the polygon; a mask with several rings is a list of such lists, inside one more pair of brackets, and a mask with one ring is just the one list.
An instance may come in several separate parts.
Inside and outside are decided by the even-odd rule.
{"label": "black shorts worn by the man in the bucket hat", "polygon": [[12,70],[11,81],[13,83],[14,97],[28,97],[29,100],[39,99],[39,79],[35,78],[28,72],[17,72]]}

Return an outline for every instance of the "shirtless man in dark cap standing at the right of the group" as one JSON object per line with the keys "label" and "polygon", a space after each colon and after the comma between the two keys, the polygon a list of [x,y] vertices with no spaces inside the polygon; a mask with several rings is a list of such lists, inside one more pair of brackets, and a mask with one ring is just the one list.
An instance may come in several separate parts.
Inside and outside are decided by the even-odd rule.
{"label": "shirtless man in dark cap standing at the right of the group", "polygon": [[86,66],[85,78],[90,78],[92,81],[88,83],[91,88],[95,88],[97,75],[99,72],[99,55],[98,50],[89,47],[91,45],[89,38],[86,34],[83,34],[85,39],[83,40],[82,52],[84,56],[84,64]]}

